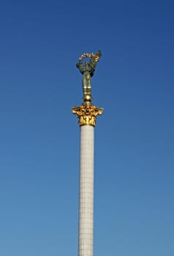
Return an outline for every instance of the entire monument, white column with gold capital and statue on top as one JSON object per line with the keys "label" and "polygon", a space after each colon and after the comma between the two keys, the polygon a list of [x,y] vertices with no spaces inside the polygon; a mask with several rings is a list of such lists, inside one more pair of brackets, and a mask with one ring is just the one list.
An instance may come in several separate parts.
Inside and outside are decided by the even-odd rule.
{"label": "entire monument, white column with gold capital and statue on top", "polygon": [[[101,51],[84,53],[76,66],[83,75],[83,103],[72,108],[80,125],[80,188],[78,256],[93,256],[94,245],[94,127],[103,108],[92,104],[91,78],[94,75]],[[83,59],[89,61],[83,63]]]}

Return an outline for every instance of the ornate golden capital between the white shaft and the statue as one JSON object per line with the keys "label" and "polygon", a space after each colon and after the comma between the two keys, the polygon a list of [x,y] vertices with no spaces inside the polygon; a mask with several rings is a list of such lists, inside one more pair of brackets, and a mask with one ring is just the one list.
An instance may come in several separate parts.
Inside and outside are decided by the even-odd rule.
{"label": "ornate golden capital between the white shaft and the statue", "polygon": [[98,115],[102,115],[102,112],[103,108],[99,108],[91,104],[72,107],[72,113],[77,115],[80,127],[83,125],[91,125],[92,127],[95,127],[96,118]]}

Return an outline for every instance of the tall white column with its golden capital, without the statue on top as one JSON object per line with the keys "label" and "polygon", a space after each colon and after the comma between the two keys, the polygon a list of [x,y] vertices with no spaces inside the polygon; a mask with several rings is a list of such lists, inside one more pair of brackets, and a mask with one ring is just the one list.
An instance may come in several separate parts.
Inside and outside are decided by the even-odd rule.
{"label": "tall white column with its golden capital, without the statue on top", "polygon": [[91,103],[72,108],[80,124],[80,191],[78,256],[93,256],[94,244],[94,127],[102,108]]}

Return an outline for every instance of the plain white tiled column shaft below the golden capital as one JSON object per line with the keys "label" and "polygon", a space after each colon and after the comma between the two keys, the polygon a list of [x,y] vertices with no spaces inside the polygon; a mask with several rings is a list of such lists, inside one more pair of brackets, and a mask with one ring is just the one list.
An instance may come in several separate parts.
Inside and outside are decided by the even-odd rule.
{"label": "plain white tiled column shaft below the golden capital", "polygon": [[93,256],[94,127],[80,127],[80,198],[78,255]]}

